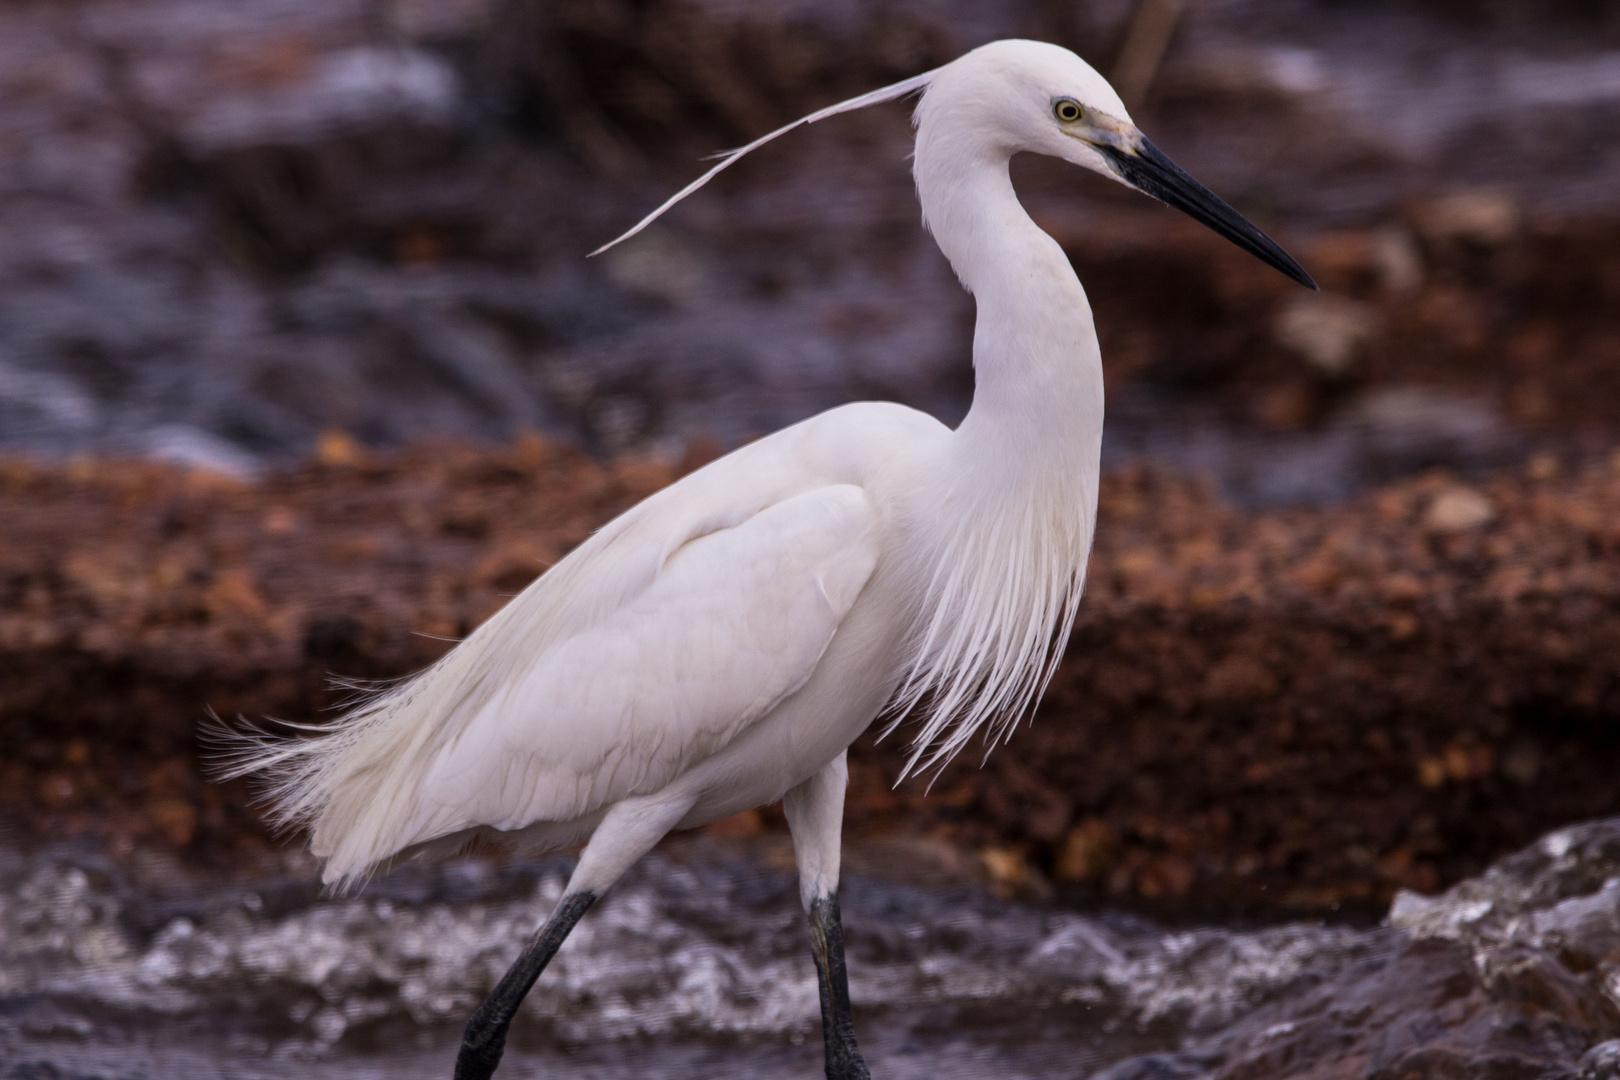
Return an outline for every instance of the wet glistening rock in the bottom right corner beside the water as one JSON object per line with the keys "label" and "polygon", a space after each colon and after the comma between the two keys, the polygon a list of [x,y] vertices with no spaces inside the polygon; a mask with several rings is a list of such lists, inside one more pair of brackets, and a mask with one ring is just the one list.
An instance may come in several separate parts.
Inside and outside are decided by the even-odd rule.
{"label": "wet glistening rock in the bottom right corner beside the water", "polygon": [[[1442,897],[1401,894],[1388,952],[1286,1009],[1244,1018],[1212,1075],[1567,1077],[1586,1061],[1601,1067],[1620,1014],[1581,952],[1610,950],[1620,925],[1617,897],[1591,891],[1614,870],[1617,836],[1614,819],[1578,826]],[[1581,946],[1560,954],[1533,923],[1570,902],[1604,916],[1576,920]]]}

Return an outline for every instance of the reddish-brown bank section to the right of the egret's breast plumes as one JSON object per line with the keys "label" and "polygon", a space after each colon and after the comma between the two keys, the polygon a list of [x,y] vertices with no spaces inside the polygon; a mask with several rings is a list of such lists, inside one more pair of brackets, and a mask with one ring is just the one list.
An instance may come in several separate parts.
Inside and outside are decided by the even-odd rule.
{"label": "reddish-brown bank section to the right of the egret's breast plumes", "polygon": [[[1257,517],[1152,474],[1105,492],[1034,725],[907,816],[1090,895],[1366,910],[1620,801],[1620,476]],[[1494,520],[1445,520],[1471,504]],[[857,806],[897,758],[862,755]]]}

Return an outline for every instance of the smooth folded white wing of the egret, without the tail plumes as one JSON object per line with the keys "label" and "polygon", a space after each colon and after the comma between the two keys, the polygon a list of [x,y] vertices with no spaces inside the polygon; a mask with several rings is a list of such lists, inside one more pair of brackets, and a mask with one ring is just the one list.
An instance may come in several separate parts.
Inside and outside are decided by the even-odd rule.
{"label": "smooth folded white wing of the egret, without the tail plumes", "polygon": [[687,539],[449,733],[408,842],[567,821],[664,787],[810,678],[876,559],[876,513],[850,484]]}

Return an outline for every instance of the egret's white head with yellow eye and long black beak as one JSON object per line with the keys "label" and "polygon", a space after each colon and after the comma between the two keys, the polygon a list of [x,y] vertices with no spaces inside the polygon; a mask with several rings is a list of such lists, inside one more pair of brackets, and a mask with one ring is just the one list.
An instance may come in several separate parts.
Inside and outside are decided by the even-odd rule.
{"label": "egret's white head with yellow eye and long black beak", "polygon": [[940,68],[917,105],[919,186],[925,168],[1019,152],[1061,157],[1136,188],[1315,288],[1270,236],[1149,142],[1108,81],[1068,49],[998,40]]}

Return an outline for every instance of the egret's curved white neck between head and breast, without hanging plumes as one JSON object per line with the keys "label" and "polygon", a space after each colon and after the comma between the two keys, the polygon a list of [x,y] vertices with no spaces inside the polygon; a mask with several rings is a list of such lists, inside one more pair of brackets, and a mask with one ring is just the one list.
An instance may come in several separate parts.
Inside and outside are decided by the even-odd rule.
{"label": "egret's curved white neck between head and breast, without hanging plumes", "polygon": [[1019,204],[1006,151],[927,134],[917,141],[923,220],[978,308],[974,405],[959,442],[1003,474],[1021,463],[1095,474],[1103,371],[1085,290]]}

